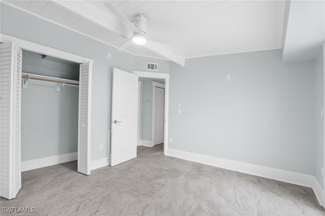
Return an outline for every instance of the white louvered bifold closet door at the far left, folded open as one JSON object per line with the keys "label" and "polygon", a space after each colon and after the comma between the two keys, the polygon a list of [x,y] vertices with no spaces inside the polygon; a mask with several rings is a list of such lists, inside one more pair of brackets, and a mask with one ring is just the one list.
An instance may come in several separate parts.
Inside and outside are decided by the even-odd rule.
{"label": "white louvered bifold closet door at the far left, folded open", "polygon": [[21,54],[14,43],[0,44],[0,193],[7,199],[15,198],[21,188]]}

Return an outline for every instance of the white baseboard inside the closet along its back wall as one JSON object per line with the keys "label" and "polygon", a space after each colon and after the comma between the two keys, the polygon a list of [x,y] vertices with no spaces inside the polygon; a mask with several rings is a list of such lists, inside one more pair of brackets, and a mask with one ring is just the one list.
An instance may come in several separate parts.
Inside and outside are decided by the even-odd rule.
{"label": "white baseboard inside the closet along its back wall", "polygon": [[27,171],[31,169],[38,169],[46,166],[52,166],[55,164],[66,163],[70,161],[75,161],[78,159],[78,153],[69,153],[64,155],[56,155],[47,158],[40,158],[35,160],[29,161],[22,161],[21,162],[21,171]]}

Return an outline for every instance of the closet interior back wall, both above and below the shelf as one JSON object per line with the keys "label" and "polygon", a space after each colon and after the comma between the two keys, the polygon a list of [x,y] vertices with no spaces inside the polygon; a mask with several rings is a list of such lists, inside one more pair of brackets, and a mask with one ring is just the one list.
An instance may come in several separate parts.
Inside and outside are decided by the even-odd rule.
{"label": "closet interior back wall, both above and below the shelf", "polygon": [[[23,51],[22,72],[79,80],[79,64]],[[78,151],[79,88],[30,80],[22,88],[21,161]]]}

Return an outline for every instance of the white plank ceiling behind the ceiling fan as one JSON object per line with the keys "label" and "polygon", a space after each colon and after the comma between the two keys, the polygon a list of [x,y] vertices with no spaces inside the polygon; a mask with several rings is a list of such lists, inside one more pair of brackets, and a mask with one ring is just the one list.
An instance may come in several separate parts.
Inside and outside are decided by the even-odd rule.
{"label": "white plank ceiling behind the ceiling fan", "polygon": [[[168,44],[185,58],[282,48],[285,1],[5,3],[114,47],[119,47],[127,39],[125,35],[105,27],[114,17],[104,3],[112,3],[129,20],[143,14],[148,19],[148,40]],[[69,8],[66,5],[69,5]],[[87,8],[88,14],[83,8]],[[135,55],[165,59],[139,45],[133,45],[126,51]]]}

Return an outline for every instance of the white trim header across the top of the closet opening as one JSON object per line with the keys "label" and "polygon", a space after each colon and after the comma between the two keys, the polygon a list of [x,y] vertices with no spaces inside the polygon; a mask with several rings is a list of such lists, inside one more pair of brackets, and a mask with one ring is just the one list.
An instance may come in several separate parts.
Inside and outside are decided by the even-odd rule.
{"label": "white trim header across the top of the closet opening", "polygon": [[[3,34],[3,33],[0,33],[0,39],[1,39],[2,43],[14,42],[16,44],[16,46],[20,47],[22,50],[36,52],[36,53],[39,53],[39,54],[48,55],[48,56],[52,56],[52,57],[56,57],[56,58],[60,58],[60,59],[68,60],[68,61],[73,61],[73,62],[76,62],[76,63],[79,63],[79,64],[90,62],[90,65],[92,66],[93,62],[94,62],[93,59],[78,56],[78,55],[75,55],[75,54],[72,54],[72,53],[64,52],[64,51],[57,50],[57,49],[54,49],[54,48],[51,48],[51,47],[36,44],[36,43],[33,43],[33,42],[25,41],[25,40],[15,38],[15,37],[12,37],[10,35]],[[89,95],[89,96],[91,97],[91,95]],[[91,113],[89,113],[89,115],[91,116]],[[89,149],[89,155],[90,155],[90,142],[88,142],[87,147]],[[79,148],[78,148],[78,154],[79,154]],[[16,155],[14,155],[14,157],[16,157]],[[89,163],[90,163],[90,160],[89,160]],[[89,164],[89,167],[90,167],[90,164]],[[11,168],[11,169],[13,169],[13,168]]]}

